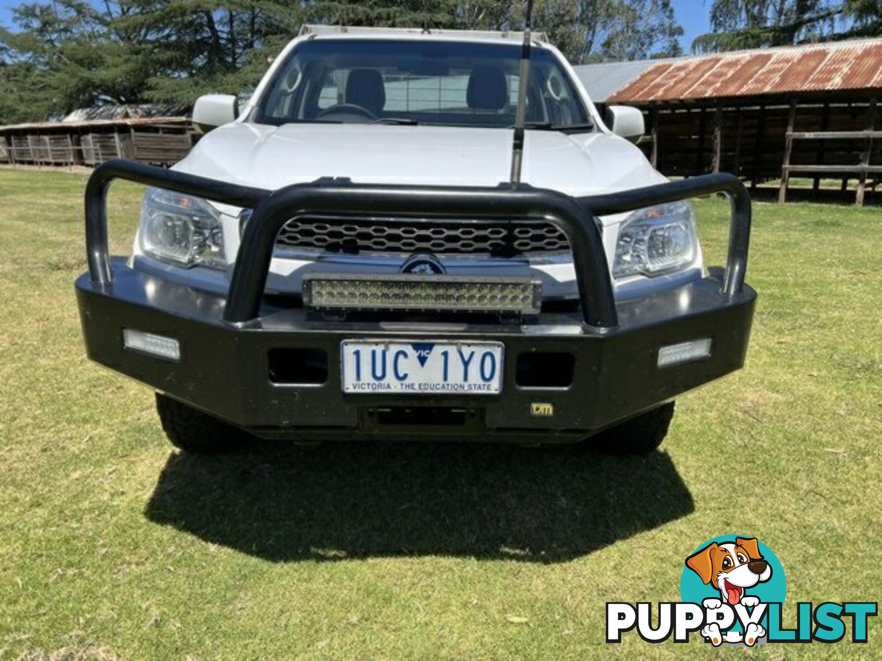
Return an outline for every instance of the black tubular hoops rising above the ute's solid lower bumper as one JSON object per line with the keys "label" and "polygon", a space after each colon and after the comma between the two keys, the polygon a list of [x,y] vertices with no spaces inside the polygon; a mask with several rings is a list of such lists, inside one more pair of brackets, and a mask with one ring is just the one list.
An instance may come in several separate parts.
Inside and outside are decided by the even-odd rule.
{"label": "black tubular hoops rising above the ute's solid lower bumper", "polygon": [[[291,219],[322,213],[373,213],[408,216],[431,225],[437,218],[463,224],[487,219],[512,222],[543,219],[560,228],[570,242],[584,323],[597,330],[618,325],[609,266],[597,219],[654,204],[724,193],[729,197],[729,249],[721,293],[742,292],[751,233],[751,201],[735,176],[703,175],[678,182],[624,190],[609,195],[570,197],[527,184],[496,188],[355,184],[323,178],[278,190],[250,188],[188,175],[130,160],[108,160],[96,167],[86,185],[86,251],[93,285],[112,281],[108,251],[107,191],[115,179],[143,183],[216,202],[253,209],[244,227],[239,256],[230,280],[223,318],[248,324],[260,315],[276,236]],[[328,218],[328,223],[346,222]]]}

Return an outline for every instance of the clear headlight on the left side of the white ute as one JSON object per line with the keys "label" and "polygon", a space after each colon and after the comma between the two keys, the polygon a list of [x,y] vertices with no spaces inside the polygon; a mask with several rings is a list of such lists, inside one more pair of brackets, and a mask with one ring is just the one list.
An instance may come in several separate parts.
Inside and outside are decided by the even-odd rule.
{"label": "clear headlight on the left side of the white ute", "polygon": [[225,269],[220,214],[205,200],[147,189],[141,207],[141,249],[179,266]]}

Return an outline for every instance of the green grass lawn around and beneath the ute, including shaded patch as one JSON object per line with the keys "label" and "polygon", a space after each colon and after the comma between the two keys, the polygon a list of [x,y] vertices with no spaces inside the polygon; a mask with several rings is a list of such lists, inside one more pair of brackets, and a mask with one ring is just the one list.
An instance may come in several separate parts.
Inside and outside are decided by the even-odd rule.
{"label": "green grass lawn around and beneath the ute, including shaded patch", "polygon": [[[90,364],[81,175],[0,172],[0,658],[741,657],[606,645],[604,603],[679,599],[707,538],[759,537],[796,602],[882,594],[882,213],[757,204],[747,367],[645,459],[487,445],[170,449]],[[112,196],[126,252],[138,189]],[[725,207],[698,204],[712,256]],[[717,260],[716,263],[719,263]],[[757,658],[879,657],[766,645]]]}

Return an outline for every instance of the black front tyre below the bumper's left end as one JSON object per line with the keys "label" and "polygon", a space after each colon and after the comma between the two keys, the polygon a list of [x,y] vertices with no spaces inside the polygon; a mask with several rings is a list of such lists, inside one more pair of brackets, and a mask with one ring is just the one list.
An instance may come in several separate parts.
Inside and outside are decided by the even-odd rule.
{"label": "black front tyre below the bumper's left end", "polygon": [[247,434],[239,427],[156,393],[162,431],[176,448],[194,454],[218,454],[243,447]]}

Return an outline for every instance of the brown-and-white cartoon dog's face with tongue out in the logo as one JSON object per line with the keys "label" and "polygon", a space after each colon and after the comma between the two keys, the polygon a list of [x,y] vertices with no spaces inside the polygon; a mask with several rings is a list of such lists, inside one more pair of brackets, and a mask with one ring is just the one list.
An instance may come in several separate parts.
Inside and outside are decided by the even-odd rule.
{"label": "brown-and-white cartoon dog's face with tongue out in the logo", "polygon": [[720,590],[723,603],[729,605],[741,603],[744,590],[772,577],[772,568],[759,553],[755,538],[736,537],[734,544],[712,542],[686,558],[686,567],[698,574],[702,583]]}

